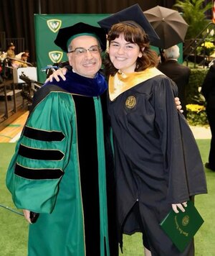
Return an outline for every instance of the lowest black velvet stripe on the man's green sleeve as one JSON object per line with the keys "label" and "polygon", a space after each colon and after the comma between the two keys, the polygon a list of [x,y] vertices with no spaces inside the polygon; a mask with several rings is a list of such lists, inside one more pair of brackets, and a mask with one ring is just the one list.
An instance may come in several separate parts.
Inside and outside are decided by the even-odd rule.
{"label": "lowest black velvet stripe on the man's green sleeve", "polygon": [[64,174],[60,169],[30,169],[17,163],[14,173],[30,180],[53,180],[60,178]]}

